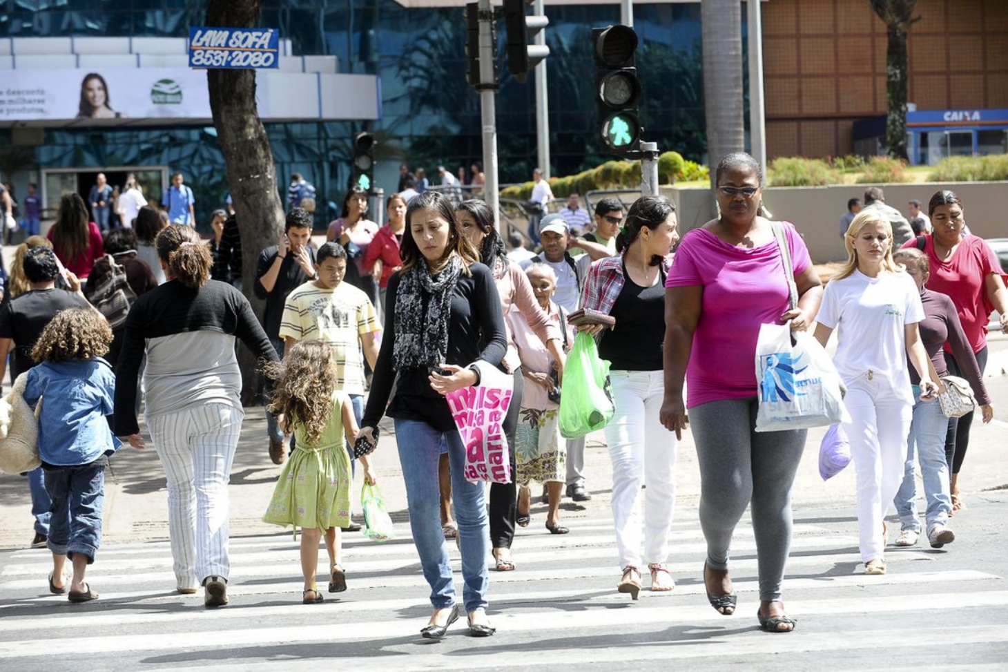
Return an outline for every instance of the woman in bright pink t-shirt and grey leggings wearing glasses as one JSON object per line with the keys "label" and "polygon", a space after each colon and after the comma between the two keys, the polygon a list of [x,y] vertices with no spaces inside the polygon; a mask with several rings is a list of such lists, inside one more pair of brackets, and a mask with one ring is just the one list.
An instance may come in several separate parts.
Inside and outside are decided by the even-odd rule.
{"label": "woman in bright pink t-shirt and grey leggings wearing glasses", "polygon": [[[791,540],[791,484],[805,430],[755,432],[756,339],[760,325],[791,321],[805,330],[823,288],[808,250],[784,223],[798,308],[787,310],[787,278],[770,221],[759,216],[763,171],[749,154],[721,159],[716,172],[721,216],[682,237],[665,281],[665,398],[661,422],[676,436],[686,406],[701,470],[700,517],[707,539],[704,585],[719,612],[735,612],[728,575],[735,526],[752,503],[759,555],[760,625],[794,630],[780,586]],[[688,405],[682,381],[688,378]]]}

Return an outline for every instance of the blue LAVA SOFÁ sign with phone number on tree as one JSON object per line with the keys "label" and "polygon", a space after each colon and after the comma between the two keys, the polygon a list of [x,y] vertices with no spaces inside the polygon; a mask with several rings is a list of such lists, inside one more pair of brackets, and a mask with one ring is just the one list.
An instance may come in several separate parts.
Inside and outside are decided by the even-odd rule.
{"label": "blue LAVA SOF\u00c1 sign with phone number on tree", "polygon": [[276,28],[190,28],[190,68],[279,68]]}

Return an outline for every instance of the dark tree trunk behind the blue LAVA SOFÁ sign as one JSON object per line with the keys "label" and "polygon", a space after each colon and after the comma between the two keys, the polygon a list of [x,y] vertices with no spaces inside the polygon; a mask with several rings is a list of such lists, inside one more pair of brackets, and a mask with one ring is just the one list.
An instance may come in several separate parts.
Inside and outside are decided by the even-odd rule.
{"label": "dark tree trunk behind the blue LAVA SOF\u00c1 sign", "polygon": [[[211,0],[208,26],[253,28],[259,18],[259,0]],[[254,70],[208,70],[210,109],[224,153],[228,186],[242,236],[242,287],[256,315],[263,302],[252,292],[259,253],[275,245],[283,232],[283,206],[276,185],[276,169],[266,129],[255,102]],[[282,353],[277,353],[282,354]],[[242,404],[259,401],[261,375],[252,353],[238,349],[242,370]]]}

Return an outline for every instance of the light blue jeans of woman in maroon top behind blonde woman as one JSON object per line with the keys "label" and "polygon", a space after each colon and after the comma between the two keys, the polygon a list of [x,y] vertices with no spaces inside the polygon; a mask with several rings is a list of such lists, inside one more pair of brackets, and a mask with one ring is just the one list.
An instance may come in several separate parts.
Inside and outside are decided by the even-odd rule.
{"label": "light blue jeans of woman in maroon top behind blonde woman", "polygon": [[946,462],[944,442],[949,419],[941,415],[937,400],[921,402],[920,388],[913,385],[913,422],[906,442],[906,466],[903,484],[899,486],[892,502],[899,514],[900,529],[920,532],[917,518],[917,488],[913,476],[913,449],[917,448],[920,474],[924,481],[924,498],[927,501],[927,531],[935,525],[947,525],[952,513],[952,494],[949,491],[949,463]]}

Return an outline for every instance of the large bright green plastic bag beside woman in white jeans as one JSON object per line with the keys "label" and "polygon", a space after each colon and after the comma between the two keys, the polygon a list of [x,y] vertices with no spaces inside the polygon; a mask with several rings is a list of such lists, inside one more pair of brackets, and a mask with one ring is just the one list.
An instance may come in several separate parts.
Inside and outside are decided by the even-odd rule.
{"label": "large bright green plastic bag beside woman in white jeans", "polygon": [[565,439],[577,439],[602,429],[612,419],[609,362],[599,358],[595,339],[588,332],[579,332],[563,367],[560,435]]}

